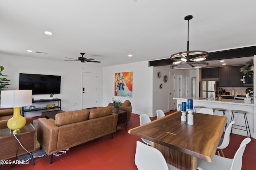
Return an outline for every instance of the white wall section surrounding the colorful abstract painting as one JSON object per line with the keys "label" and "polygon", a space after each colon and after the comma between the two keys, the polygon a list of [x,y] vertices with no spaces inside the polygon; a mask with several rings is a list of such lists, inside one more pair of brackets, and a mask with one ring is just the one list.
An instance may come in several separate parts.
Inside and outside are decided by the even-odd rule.
{"label": "white wall section surrounding the colorful abstract painting", "polygon": [[[148,114],[152,117],[152,67],[148,61],[121,64],[103,68],[103,106],[112,101],[112,97],[130,100],[132,113]],[[114,74],[116,72],[133,72],[132,98],[114,96]]]}

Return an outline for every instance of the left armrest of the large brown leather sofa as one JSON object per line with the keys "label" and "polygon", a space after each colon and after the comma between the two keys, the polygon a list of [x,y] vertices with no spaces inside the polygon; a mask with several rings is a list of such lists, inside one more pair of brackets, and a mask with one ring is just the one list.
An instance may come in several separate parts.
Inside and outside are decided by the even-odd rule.
{"label": "left armrest of the large brown leather sofa", "polygon": [[46,118],[38,119],[37,141],[46,154],[55,153],[57,149],[59,127]]}

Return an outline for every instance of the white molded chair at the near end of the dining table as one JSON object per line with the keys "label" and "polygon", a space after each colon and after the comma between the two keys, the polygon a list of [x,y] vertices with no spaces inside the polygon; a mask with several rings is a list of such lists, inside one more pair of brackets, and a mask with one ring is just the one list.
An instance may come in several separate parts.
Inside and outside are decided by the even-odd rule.
{"label": "white molded chair at the near end of the dining table", "polygon": [[137,141],[134,161],[138,170],[179,170],[168,164],[159,150],[140,141]]}

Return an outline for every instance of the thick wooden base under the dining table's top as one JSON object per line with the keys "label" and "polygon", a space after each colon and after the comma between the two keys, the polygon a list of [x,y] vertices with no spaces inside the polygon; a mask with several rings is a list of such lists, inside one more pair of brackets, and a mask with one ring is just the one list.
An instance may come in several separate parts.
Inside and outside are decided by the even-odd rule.
{"label": "thick wooden base under the dining table's top", "polygon": [[151,142],[151,146],[160,150],[168,164],[181,170],[197,170],[197,158],[169,147]]}

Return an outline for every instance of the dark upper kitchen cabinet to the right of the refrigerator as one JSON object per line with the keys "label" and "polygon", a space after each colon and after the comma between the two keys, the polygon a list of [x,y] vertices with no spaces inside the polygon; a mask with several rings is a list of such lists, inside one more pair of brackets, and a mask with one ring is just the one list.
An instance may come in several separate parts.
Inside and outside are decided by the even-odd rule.
{"label": "dark upper kitchen cabinet to the right of the refrigerator", "polygon": [[230,66],[219,68],[219,86],[220,87],[239,87],[241,86],[241,66]]}

